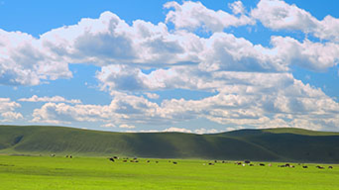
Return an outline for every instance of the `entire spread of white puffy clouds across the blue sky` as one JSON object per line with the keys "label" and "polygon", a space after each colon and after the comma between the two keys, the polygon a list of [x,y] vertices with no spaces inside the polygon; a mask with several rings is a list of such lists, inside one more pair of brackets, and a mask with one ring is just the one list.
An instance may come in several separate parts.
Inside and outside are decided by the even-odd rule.
{"label": "entire spread of white puffy clouds across the blue sky", "polygon": [[[336,18],[319,21],[281,0],[261,0],[249,14],[241,1],[229,4],[233,14],[191,1],[168,2],[164,7],[169,9],[166,20],[158,24],[143,20],[127,24],[106,11],[99,18],[48,31],[39,39],[0,30],[0,84],[37,85],[69,78],[68,64],[73,63],[101,67],[96,78],[112,95],[110,104],[83,104],[61,96],[19,99],[47,101],[33,111],[31,122],[37,123],[102,122],[106,123],[102,127],[134,128],[205,118],[232,128],[338,128],[338,103],[294,79],[290,69],[297,65],[323,72],[338,65],[339,30],[330,25],[338,22]],[[271,45],[264,47],[224,32],[230,26],[254,25],[255,19],[274,30],[300,30],[328,41],[272,36]],[[168,29],[169,23],[174,30]],[[201,28],[211,35],[194,33]],[[159,95],[148,93],[172,89],[215,94],[155,103],[152,99]],[[14,112],[19,106],[0,99],[2,117],[20,118]]]}

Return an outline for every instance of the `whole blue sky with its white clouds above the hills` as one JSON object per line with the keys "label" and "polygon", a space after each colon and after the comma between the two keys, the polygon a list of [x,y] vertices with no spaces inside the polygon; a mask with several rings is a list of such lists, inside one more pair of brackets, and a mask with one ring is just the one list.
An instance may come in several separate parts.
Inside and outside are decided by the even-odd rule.
{"label": "whole blue sky with its white clouds above the hills", "polygon": [[0,0],[0,125],[339,131],[338,7]]}

